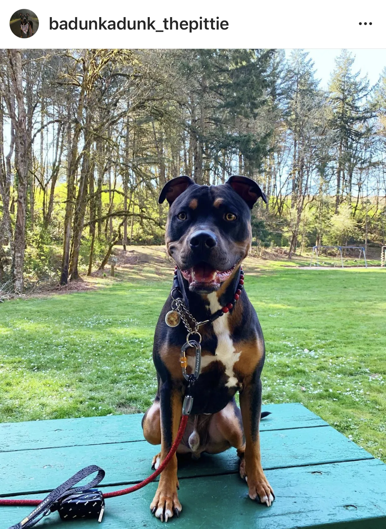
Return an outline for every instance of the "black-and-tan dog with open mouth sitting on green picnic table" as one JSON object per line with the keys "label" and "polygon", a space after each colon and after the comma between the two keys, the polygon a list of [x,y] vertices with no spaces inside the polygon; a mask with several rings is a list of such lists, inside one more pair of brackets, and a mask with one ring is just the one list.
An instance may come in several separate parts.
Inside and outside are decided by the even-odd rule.
{"label": "black-and-tan dog with open mouth sitting on green picnic table", "polygon": [[[163,187],[159,203],[165,199],[169,203],[166,248],[177,265],[186,307],[197,321],[222,312],[222,317],[199,328],[200,376],[177,452],[198,458],[202,452],[215,454],[234,446],[249,497],[270,506],[274,494],[261,466],[259,440],[263,334],[244,289],[237,290],[240,294],[236,294],[234,307],[229,305],[243,282],[240,267],[251,248],[251,209],[259,197],[266,202],[258,184],[247,177],[232,176],[226,184],[206,186],[181,176]],[[188,331],[182,321],[175,327],[166,324],[172,301],[169,295],[155,329],[153,361],[158,390],[142,419],[145,439],[161,444],[161,452],[153,458],[153,468],[159,467],[177,436],[186,389],[180,357]],[[222,311],[226,305],[229,308]],[[195,335],[192,339],[196,340]],[[186,354],[188,366],[193,369],[194,349],[189,348]],[[240,392],[240,408],[235,402],[236,391]],[[161,521],[179,516],[182,507],[178,488],[174,454],[161,473],[150,505],[151,512]]]}

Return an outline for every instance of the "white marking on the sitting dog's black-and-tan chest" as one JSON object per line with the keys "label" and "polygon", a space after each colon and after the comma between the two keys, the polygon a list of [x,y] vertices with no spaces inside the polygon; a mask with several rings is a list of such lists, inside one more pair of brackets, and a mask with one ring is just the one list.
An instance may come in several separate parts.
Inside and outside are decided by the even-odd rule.
{"label": "white marking on the sitting dog's black-and-tan chest", "polygon": [[[208,295],[210,312],[213,314],[221,308],[218,303],[216,293]],[[215,356],[205,355],[201,357],[201,369],[205,368],[212,362],[220,361],[224,364],[225,375],[228,376],[228,380],[225,384],[228,388],[237,386],[237,378],[233,372],[233,366],[238,361],[241,355],[241,351],[236,352],[231,335],[228,327],[229,313],[225,313],[224,316],[220,316],[213,322],[213,329],[217,336],[217,348]],[[194,368],[194,359],[188,357],[189,365]]]}

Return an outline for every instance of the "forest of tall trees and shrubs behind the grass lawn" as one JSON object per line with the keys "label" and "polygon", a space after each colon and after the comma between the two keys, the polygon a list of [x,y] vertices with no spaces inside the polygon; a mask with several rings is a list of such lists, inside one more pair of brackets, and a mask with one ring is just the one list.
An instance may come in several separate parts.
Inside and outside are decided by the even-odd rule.
{"label": "forest of tall trees and shrubs behind the grass lawn", "polygon": [[[369,50],[370,52],[370,50]],[[302,50],[1,50],[0,290],[162,244],[170,178],[260,184],[253,243],[385,243],[386,69],[346,50],[328,89]],[[380,65],[382,71],[383,65]]]}

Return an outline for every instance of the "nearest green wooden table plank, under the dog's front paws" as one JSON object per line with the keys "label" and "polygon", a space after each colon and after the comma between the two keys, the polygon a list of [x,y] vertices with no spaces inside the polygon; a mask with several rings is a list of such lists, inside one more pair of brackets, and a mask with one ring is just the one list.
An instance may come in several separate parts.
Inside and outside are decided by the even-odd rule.
{"label": "nearest green wooden table plank, under the dog's front paws", "polygon": [[[180,480],[182,513],[175,527],[194,529],[384,529],[386,465],[378,459],[269,470],[276,500],[270,508],[247,497],[238,476]],[[106,500],[104,529],[159,528],[149,510],[157,484]],[[113,490],[108,488],[106,490]],[[28,497],[41,497],[28,496]],[[0,507],[0,527],[19,522],[30,507]],[[57,513],[41,522],[62,527]],[[49,527],[49,525],[47,525]],[[72,529],[97,529],[95,521],[72,521]]]}

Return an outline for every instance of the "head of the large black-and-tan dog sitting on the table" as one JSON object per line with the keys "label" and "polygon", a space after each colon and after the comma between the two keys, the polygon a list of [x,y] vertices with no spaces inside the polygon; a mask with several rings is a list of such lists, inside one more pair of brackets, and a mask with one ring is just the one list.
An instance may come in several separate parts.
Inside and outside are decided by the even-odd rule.
{"label": "head of the large black-and-tan dog sitting on the table", "polygon": [[218,290],[251,247],[251,209],[266,197],[250,178],[231,176],[226,184],[199,186],[188,176],[173,178],[158,202],[169,203],[167,251],[198,293]]}

